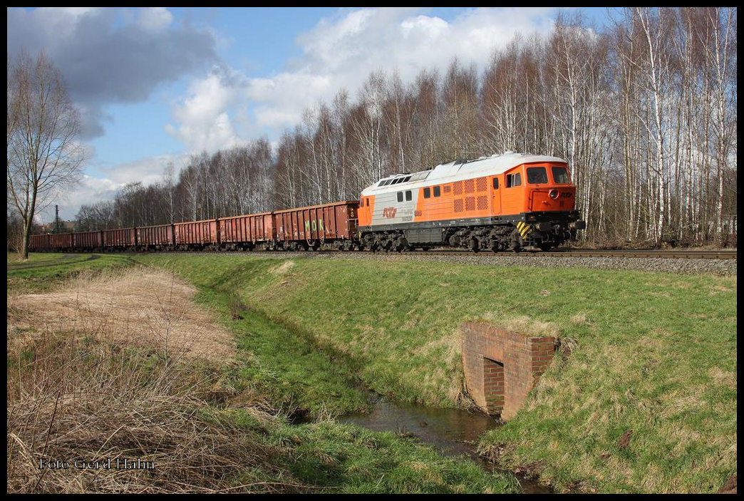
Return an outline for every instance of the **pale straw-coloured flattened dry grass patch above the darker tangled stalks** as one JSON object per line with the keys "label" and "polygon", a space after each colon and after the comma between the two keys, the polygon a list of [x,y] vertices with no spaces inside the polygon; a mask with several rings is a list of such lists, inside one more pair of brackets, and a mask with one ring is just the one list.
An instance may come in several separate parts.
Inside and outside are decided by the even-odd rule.
{"label": "pale straw-coloured flattened dry grass patch above the darker tangled stalks", "polygon": [[68,331],[188,357],[231,359],[231,334],[193,303],[195,294],[190,284],[164,271],[85,274],[55,292],[9,297],[8,329]]}

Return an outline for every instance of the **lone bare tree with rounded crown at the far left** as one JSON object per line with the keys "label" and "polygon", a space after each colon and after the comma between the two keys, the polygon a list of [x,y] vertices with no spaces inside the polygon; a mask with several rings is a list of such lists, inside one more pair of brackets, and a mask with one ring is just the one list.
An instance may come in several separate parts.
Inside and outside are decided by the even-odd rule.
{"label": "lone bare tree with rounded crown at the far left", "polygon": [[80,117],[43,53],[33,60],[24,52],[8,63],[7,101],[7,201],[23,221],[21,254],[28,259],[33,217],[80,176]]}

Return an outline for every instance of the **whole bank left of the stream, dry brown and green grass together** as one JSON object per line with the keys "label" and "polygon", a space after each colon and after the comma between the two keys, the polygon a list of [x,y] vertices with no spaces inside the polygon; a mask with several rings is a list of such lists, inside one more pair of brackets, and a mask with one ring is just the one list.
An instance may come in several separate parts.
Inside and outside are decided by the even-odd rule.
{"label": "whole bank left of the stream, dry brown and green grass together", "polygon": [[[291,407],[286,398],[323,400],[314,384],[339,388],[330,399],[338,409],[363,394],[342,389],[347,371],[330,370],[327,359],[324,366],[301,340],[295,347],[307,353],[272,360],[276,348],[266,345],[292,339],[231,296],[205,294],[194,304],[189,284],[138,267],[46,271],[47,284],[37,280],[43,272],[33,280],[8,272],[8,492],[516,490],[510,476],[394,433],[328,419],[291,424],[280,410]],[[237,345],[205,301],[244,330]],[[228,321],[236,313],[244,318]],[[327,370],[326,380],[308,379],[296,393],[272,388],[311,369]],[[39,458],[70,467],[39,469]],[[75,458],[140,459],[153,469],[78,469]]]}

